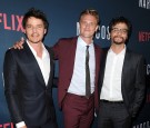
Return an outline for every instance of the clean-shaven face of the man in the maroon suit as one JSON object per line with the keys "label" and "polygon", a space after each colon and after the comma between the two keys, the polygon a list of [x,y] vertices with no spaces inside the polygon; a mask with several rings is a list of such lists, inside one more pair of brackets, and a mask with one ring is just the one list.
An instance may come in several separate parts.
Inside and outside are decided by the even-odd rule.
{"label": "clean-shaven face of the man in the maroon suit", "polygon": [[94,32],[98,29],[98,21],[96,17],[91,14],[84,14],[80,19],[80,36],[86,39],[92,39]]}

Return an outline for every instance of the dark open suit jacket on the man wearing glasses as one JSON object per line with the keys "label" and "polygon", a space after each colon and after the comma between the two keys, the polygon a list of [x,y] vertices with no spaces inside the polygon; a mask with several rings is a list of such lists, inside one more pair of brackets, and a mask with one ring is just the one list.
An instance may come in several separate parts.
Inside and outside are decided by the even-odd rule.
{"label": "dark open suit jacket on the man wearing glasses", "polygon": [[[99,79],[99,96],[103,83],[106,60],[109,48],[103,49]],[[129,114],[134,117],[144,98],[144,59],[127,49],[122,68],[121,91]]]}

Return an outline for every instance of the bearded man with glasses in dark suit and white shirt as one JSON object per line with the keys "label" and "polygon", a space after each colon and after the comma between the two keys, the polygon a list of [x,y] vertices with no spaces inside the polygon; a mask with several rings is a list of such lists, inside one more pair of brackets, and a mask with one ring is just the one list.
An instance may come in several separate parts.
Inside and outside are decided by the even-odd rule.
{"label": "bearded man with glasses in dark suit and white shirt", "polygon": [[99,79],[99,128],[130,128],[144,98],[144,59],[126,42],[131,23],[124,17],[109,24],[111,47],[103,50]]}

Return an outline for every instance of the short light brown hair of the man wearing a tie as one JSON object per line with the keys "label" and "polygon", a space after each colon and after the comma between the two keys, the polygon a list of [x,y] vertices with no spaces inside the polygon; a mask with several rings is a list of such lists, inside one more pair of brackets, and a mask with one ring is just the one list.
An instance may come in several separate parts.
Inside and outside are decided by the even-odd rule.
{"label": "short light brown hair of the man wearing a tie", "polygon": [[99,13],[98,13],[97,10],[94,10],[94,9],[86,9],[86,10],[83,10],[80,13],[79,21],[81,20],[81,17],[84,16],[84,14],[91,14],[91,16],[96,17],[98,24],[100,23],[100,17],[99,17]]}

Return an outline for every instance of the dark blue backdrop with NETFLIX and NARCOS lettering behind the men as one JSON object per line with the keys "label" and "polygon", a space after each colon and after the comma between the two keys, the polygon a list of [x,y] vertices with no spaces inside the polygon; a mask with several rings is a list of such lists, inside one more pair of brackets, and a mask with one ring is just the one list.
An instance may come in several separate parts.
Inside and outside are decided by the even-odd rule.
{"label": "dark blue backdrop with NETFLIX and NARCOS lettering behind the men", "polygon": [[[42,10],[48,17],[50,27],[44,43],[50,47],[59,38],[79,35],[79,14],[87,8],[96,9],[100,13],[101,23],[94,41],[102,48],[110,46],[108,24],[113,17],[123,16],[132,22],[133,30],[128,47],[142,53],[147,61],[146,99],[132,128],[150,128],[150,0],[0,0],[0,128],[13,128],[3,92],[4,52],[24,37],[22,18],[31,7]],[[57,67],[56,76],[58,76]],[[57,91],[57,88],[53,88],[57,120],[59,127],[63,128]],[[97,118],[92,128],[97,128]]]}

